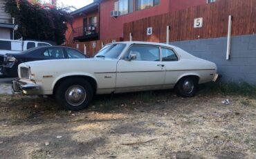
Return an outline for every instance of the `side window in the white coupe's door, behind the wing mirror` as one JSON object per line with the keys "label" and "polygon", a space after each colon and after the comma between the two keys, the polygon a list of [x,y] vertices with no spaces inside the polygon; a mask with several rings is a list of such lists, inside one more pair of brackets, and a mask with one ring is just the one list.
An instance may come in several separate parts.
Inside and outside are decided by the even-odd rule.
{"label": "side window in the white coupe's door, behind the wing mirror", "polygon": [[126,58],[130,55],[136,55],[136,61],[158,62],[160,60],[160,51],[156,46],[131,46]]}

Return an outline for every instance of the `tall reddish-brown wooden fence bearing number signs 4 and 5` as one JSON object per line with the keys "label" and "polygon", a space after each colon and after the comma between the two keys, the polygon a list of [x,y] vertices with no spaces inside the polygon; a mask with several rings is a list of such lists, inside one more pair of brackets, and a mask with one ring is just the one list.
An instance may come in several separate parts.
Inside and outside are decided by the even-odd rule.
{"label": "tall reddish-brown wooden fence bearing number signs 4 and 5", "polygon": [[[129,40],[131,32],[134,41],[165,42],[167,26],[171,26],[170,41],[226,37],[229,15],[232,15],[232,35],[255,33],[256,0],[219,0],[127,23],[124,40]],[[203,18],[202,28],[194,28],[194,19],[200,17]],[[149,27],[153,28],[152,35],[147,35]]]}

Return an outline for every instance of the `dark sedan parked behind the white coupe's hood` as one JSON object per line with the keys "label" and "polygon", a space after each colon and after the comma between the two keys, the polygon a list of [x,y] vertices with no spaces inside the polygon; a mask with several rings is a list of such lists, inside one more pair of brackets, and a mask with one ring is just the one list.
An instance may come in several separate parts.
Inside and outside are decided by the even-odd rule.
{"label": "dark sedan parked behind the white coupe's hood", "polygon": [[79,50],[64,46],[42,46],[30,48],[19,54],[6,54],[0,73],[3,76],[18,77],[18,66],[23,62],[32,62],[44,59],[77,59],[86,58]]}

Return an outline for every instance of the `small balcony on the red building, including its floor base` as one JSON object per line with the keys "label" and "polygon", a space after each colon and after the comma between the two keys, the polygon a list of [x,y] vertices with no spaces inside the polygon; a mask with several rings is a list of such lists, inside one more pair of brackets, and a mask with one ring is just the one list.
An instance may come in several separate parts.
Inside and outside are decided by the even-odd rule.
{"label": "small balcony on the red building, including its floor base", "polygon": [[99,37],[99,27],[97,24],[91,24],[88,27],[78,27],[73,30],[75,41],[95,40]]}

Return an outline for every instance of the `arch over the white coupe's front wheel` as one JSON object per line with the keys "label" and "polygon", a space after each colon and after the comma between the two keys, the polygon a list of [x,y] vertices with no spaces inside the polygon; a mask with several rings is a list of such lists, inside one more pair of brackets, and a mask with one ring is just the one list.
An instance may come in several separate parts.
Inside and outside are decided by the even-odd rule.
{"label": "arch over the white coupe's front wheel", "polygon": [[93,93],[94,94],[96,93],[98,84],[97,84],[97,81],[95,80],[95,78],[93,78],[89,75],[68,75],[68,76],[61,77],[60,79],[56,80],[55,84],[53,85],[53,95],[55,95],[55,92],[56,92],[57,88],[60,86],[60,84],[62,84],[62,82],[65,79],[69,79],[69,78],[82,78],[82,79],[86,80],[93,87]]}

